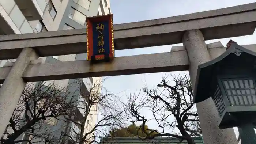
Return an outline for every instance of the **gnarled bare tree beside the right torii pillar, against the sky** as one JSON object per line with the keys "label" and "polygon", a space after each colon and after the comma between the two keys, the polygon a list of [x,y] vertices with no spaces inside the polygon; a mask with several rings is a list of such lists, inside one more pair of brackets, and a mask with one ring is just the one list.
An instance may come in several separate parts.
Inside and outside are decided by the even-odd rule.
{"label": "gnarled bare tree beside the right torii pillar, against the sky", "polygon": [[[142,123],[141,130],[146,134],[140,139],[154,139],[158,136],[176,137],[188,144],[195,144],[192,137],[202,136],[198,114],[192,101],[193,93],[190,79],[187,75],[172,77],[172,80],[163,78],[155,89],[144,88],[144,94],[130,95],[125,104],[127,121]],[[147,108],[152,118],[146,118],[142,109]],[[147,117],[149,117],[147,115]],[[147,122],[155,122],[161,129],[149,131],[145,128]],[[166,132],[166,130],[168,132]],[[169,132],[170,131],[170,132]],[[157,132],[157,134],[153,134]]]}

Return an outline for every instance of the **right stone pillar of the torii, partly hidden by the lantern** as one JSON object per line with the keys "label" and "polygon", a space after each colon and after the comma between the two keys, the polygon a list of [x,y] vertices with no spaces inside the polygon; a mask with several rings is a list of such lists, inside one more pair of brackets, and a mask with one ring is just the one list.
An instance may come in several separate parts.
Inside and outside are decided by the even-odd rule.
{"label": "right stone pillar of the torii, partly hidden by the lantern", "polygon": [[[211,56],[200,30],[187,31],[182,41],[188,52],[189,75],[191,77],[192,87],[194,88],[198,65],[210,61]],[[233,129],[220,130],[218,128],[220,118],[211,98],[197,103],[196,107],[205,144],[237,144]]]}

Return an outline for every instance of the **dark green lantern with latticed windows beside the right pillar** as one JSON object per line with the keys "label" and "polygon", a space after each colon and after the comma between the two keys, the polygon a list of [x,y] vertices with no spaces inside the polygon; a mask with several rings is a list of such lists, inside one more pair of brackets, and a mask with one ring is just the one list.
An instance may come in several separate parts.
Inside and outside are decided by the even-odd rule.
{"label": "dark green lantern with latticed windows beside the right pillar", "polygon": [[219,128],[238,127],[242,144],[256,144],[256,53],[230,41],[221,56],[199,65],[193,101],[210,97]]}

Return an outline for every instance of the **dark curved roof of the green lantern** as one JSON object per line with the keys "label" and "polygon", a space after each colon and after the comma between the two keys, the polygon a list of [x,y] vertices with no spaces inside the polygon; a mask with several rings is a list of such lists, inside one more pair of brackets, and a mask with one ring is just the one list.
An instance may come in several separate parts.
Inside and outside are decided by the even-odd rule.
{"label": "dark curved roof of the green lantern", "polygon": [[193,102],[202,102],[211,97],[218,75],[236,75],[236,71],[248,68],[256,69],[256,53],[234,41],[229,42],[223,54],[198,66]]}

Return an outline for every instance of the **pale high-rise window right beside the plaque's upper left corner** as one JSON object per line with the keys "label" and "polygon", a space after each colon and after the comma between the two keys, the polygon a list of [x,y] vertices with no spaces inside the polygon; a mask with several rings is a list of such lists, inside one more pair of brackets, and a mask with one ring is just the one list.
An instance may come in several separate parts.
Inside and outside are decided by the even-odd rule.
{"label": "pale high-rise window right beside the plaque's upper left corner", "polygon": [[82,26],[85,25],[86,17],[87,17],[86,15],[75,10],[73,7],[71,7],[69,14],[68,14],[68,18],[74,20],[75,22],[81,24]]}

